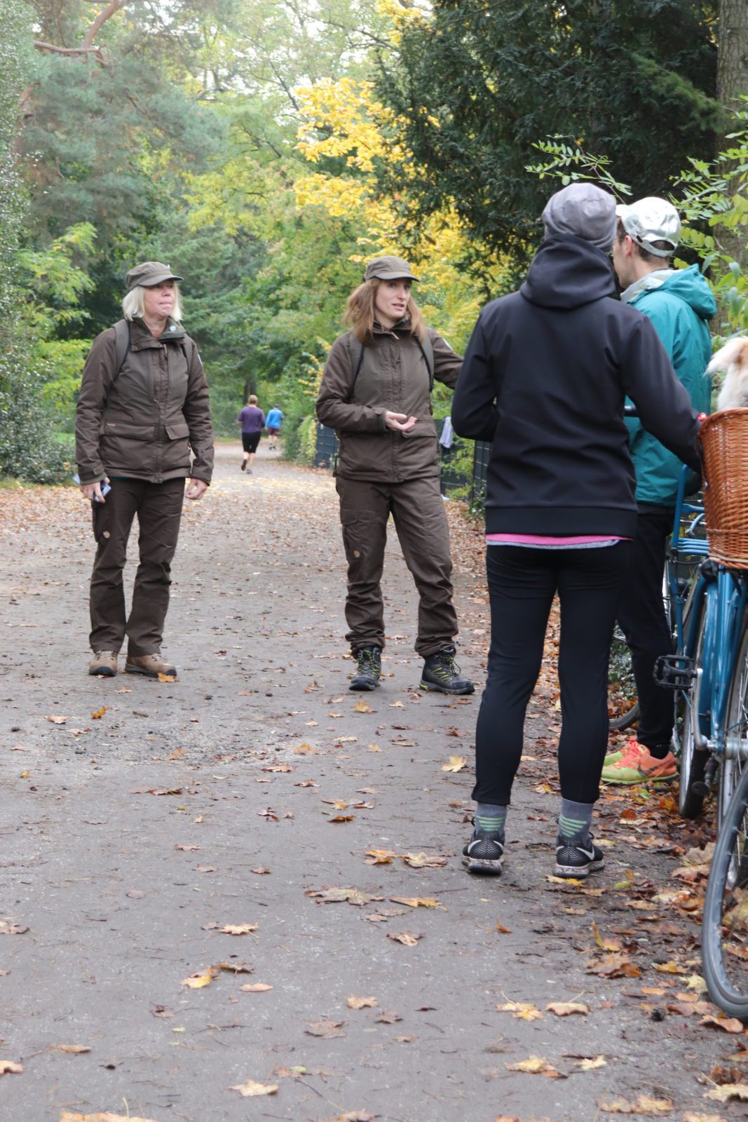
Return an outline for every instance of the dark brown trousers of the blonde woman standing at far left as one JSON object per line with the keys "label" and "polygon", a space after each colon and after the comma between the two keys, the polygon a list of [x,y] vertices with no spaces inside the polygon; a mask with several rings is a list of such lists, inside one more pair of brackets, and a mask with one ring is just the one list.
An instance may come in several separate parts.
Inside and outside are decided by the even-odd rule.
{"label": "dark brown trousers of the blonde woman standing at far left", "polygon": [[[92,651],[119,651],[126,634],[129,654],[160,651],[184,484],[183,478],[163,484],[112,479],[107,502],[92,504],[93,536],[99,546],[91,574]],[[136,514],[140,563],[132,589],[132,608],[126,619],[122,569]]]}

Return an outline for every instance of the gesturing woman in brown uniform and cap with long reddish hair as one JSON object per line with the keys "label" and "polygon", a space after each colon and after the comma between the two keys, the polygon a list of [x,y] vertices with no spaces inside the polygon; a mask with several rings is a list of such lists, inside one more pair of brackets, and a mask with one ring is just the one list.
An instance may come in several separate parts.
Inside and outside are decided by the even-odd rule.
{"label": "gesturing woman in brown uniform and cap with long reddish hair", "polygon": [[317,397],[317,417],[340,435],[335,482],[348,561],[345,638],[358,663],[350,688],[373,690],[380,682],[380,580],[391,514],[418,589],[421,687],[472,693],[473,683],[454,662],[452,559],[431,405],[434,378],[453,387],[462,359],[424,324],[410,294],[417,279],[399,257],[369,261],[349,297],[349,331],[330,350]]}

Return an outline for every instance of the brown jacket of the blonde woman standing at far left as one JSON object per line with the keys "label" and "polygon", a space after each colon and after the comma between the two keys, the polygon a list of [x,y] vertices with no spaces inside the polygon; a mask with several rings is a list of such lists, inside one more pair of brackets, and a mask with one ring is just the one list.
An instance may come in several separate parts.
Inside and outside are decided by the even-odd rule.
{"label": "brown jacket of the blonde woman standing at far left", "polygon": [[160,339],[133,320],[130,349],[117,374],[114,329],[96,335],[75,415],[81,482],[127,476],[160,484],[182,476],[210,484],[213,425],[207,383],[194,344],[187,369],[185,338],[172,320]]}

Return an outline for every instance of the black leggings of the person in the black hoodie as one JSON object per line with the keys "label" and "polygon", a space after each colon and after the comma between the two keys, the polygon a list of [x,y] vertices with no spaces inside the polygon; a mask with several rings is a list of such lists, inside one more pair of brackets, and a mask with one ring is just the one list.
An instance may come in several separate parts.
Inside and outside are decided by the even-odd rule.
{"label": "black leggings of the person in the black hoodie", "polygon": [[628,541],[569,550],[488,546],[491,649],[475,732],[478,802],[509,804],[556,591],[561,793],[575,802],[598,798],[608,745],[608,654],[630,550]]}

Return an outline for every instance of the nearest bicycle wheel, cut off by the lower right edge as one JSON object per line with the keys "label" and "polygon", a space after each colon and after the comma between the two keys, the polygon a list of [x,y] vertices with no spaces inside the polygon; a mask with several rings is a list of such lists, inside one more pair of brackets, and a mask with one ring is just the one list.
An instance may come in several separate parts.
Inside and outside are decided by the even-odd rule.
{"label": "nearest bicycle wheel, cut off by the lower right edge", "polygon": [[730,1017],[748,1022],[748,767],[717,835],[701,956],[709,996]]}

